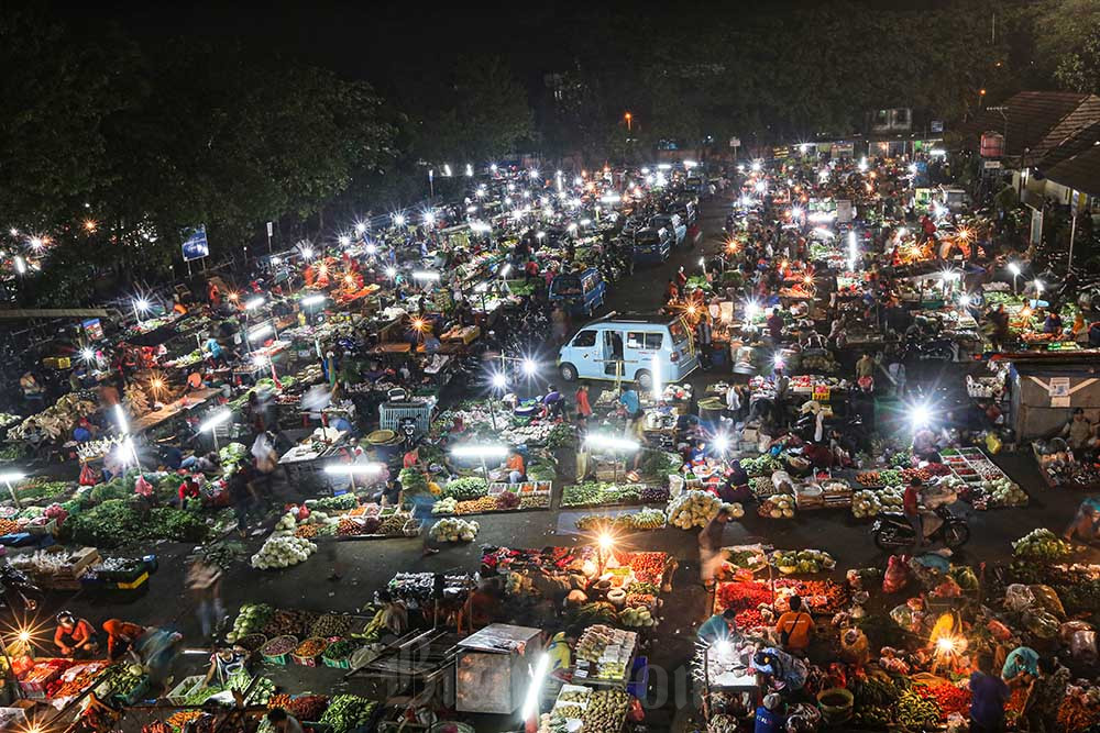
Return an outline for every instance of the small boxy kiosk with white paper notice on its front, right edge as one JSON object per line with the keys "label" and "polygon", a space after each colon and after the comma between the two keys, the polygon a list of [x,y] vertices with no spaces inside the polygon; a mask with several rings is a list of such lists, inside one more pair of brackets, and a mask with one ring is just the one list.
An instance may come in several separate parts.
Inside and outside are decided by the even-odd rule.
{"label": "small boxy kiosk with white paper notice on its front, right edge", "polygon": [[1048,437],[1060,430],[1071,410],[1100,418],[1100,364],[1074,354],[1010,354],[1012,419],[1020,441]]}

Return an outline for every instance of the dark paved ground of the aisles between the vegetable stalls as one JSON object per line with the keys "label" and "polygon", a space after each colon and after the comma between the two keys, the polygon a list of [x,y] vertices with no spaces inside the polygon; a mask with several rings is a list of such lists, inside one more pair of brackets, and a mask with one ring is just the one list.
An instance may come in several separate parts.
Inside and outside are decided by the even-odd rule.
{"label": "dark paved ground of the aisles between the vegetable stalls", "polygon": [[[703,203],[702,229],[705,251],[722,246],[722,224],[727,202],[713,199]],[[612,287],[607,308],[619,311],[656,310],[661,306],[663,285],[680,265],[697,270],[700,249],[674,251],[671,259],[659,266],[639,269],[629,282]],[[717,373],[696,373],[691,381],[702,388],[718,378]],[[1011,554],[1009,543],[1036,526],[1055,531],[1067,523],[1080,496],[1065,490],[1047,489],[1030,454],[998,456],[996,460],[1031,495],[1032,503],[1025,509],[975,512],[967,504],[960,510],[967,514],[971,541],[960,552],[960,559],[992,563],[1004,560]],[[556,487],[560,491],[560,486]],[[280,486],[285,499],[294,499],[292,487]],[[399,570],[464,570],[479,567],[483,545],[541,547],[568,546],[581,541],[571,530],[571,518],[560,518],[558,511],[537,511],[480,518],[481,533],[468,546],[446,547],[436,556],[421,557],[420,542],[415,538],[321,543],[321,548],[308,562],[286,570],[254,570],[245,562],[238,563],[226,576],[223,599],[231,617],[245,601],[267,602],[276,607],[308,610],[354,612],[371,601],[375,590]],[[849,567],[883,565],[886,557],[869,536],[869,523],[857,522],[847,510],[801,512],[788,521],[763,520],[749,511],[743,521],[732,522],[726,530],[728,544],[767,542],[778,547],[817,547],[836,557],[838,576]],[[245,544],[255,552],[263,535],[250,537]],[[694,532],[668,529],[630,536],[626,542],[639,549],[661,549],[680,560],[674,578],[674,589],[666,600],[664,621],[657,629],[645,652],[653,666],[651,678],[651,708],[648,724],[651,730],[669,730],[680,710],[681,718],[691,708],[690,682],[684,666],[691,655],[694,628],[708,615],[710,598],[698,582],[697,545]],[[198,645],[198,625],[194,604],[184,586],[183,558],[191,547],[176,543],[162,543],[153,548],[161,558],[161,569],[148,584],[146,592],[130,599],[117,597],[91,598],[51,597],[40,619],[51,622],[58,608],[70,608],[89,620],[101,623],[107,618],[120,617],[152,625],[175,626],[184,632],[189,644]],[[134,554],[141,554],[135,551]],[[327,579],[330,568],[339,563],[345,568],[339,581]],[[184,657],[177,674],[195,674],[202,656]],[[339,670],[309,670],[301,667],[270,670],[277,682],[290,690],[317,692],[356,690],[360,684],[345,685]],[[499,720],[480,722],[477,730],[504,730]]]}

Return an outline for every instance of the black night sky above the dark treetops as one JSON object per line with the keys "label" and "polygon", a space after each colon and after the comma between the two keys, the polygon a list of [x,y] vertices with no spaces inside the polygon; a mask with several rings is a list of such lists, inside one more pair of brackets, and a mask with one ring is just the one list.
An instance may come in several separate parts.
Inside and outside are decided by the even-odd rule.
{"label": "black night sky above the dark treetops", "polygon": [[[116,22],[128,35],[146,43],[170,42],[180,36],[239,43],[261,53],[324,66],[341,75],[362,78],[385,88],[395,70],[430,70],[459,55],[494,53],[508,58],[517,74],[530,79],[549,68],[560,68],[568,54],[562,47],[576,25],[593,9],[604,15],[610,32],[614,18],[646,16],[661,23],[695,27],[711,16],[736,19],[741,13],[796,13],[799,9],[833,4],[821,0],[783,0],[760,3],[746,0],[705,2],[290,2],[274,0],[57,0],[50,2],[57,15],[88,27]],[[865,9],[927,9],[946,0],[859,0]],[[851,4],[848,5],[853,8]],[[859,12],[858,10],[856,12]],[[638,43],[659,43],[639,38]],[[564,58],[563,58],[564,56]]]}

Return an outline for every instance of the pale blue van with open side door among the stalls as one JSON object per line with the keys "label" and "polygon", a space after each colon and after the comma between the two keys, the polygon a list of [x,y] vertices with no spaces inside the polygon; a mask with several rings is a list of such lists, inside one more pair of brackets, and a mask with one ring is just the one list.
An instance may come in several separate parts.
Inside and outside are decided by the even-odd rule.
{"label": "pale blue van with open side door among the stalls", "polygon": [[679,318],[610,313],[578,331],[558,352],[564,381],[622,377],[642,389],[679,381],[698,367],[698,352]]}

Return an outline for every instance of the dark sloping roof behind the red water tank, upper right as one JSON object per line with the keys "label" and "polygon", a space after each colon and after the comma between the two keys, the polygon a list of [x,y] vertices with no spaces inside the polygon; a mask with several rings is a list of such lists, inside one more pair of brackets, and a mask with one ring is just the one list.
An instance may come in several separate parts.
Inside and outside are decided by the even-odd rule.
{"label": "dark sloping roof behind the red water tank, upper right", "polygon": [[[1079,130],[1088,124],[1086,120],[1090,114],[1093,114],[1092,121],[1100,119],[1100,114],[1090,111],[1094,103],[1100,103],[1100,98],[1094,95],[1021,91],[1001,104],[1007,108],[1003,115],[1000,111],[983,109],[961,124],[959,132],[974,147],[978,146],[982,133],[999,132],[1004,135],[1005,154],[1018,157],[1045,144],[1048,135],[1063,123],[1069,129],[1076,125]],[[1079,118],[1071,116],[1082,107],[1085,109]]]}

